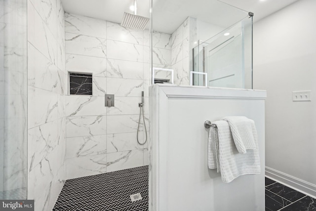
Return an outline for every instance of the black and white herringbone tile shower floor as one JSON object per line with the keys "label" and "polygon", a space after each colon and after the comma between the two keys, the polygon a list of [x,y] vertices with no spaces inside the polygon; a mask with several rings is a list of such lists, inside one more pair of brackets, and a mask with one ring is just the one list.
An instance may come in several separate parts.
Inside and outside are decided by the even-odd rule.
{"label": "black and white herringbone tile shower floor", "polygon": [[[142,200],[131,202],[140,193]],[[53,211],[148,211],[148,166],[69,179]]]}

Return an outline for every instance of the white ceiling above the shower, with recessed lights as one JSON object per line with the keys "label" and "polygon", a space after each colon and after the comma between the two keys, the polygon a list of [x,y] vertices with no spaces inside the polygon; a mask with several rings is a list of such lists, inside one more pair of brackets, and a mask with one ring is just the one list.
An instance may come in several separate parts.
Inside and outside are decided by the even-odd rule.
{"label": "white ceiling above the shower, with recessed lights", "polygon": [[[296,0],[222,0],[254,13],[258,21]],[[68,13],[120,23],[124,12],[132,13],[133,0],[62,0]],[[149,17],[149,0],[137,1],[137,14]],[[225,27],[239,16],[218,0],[153,0],[154,30],[171,34],[188,17]],[[225,13],[224,13],[225,12]],[[226,15],[228,14],[228,15]],[[236,20],[236,19],[235,19]]]}

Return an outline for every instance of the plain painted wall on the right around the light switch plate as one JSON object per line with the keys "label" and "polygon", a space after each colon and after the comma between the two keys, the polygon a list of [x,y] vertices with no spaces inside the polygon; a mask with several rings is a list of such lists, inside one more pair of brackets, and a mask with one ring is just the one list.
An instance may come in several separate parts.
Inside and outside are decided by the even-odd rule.
{"label": "plain painted wall on the right around the light switch plate", "polygon": [[[314,188],[315,11],[315,0],[299,0],[253,27],[253,84],[255,89],[266,89],[268,93],[266,167],[312,183]],[[297,90],[312,90],[312,101],[292,102],[292,91]]]}

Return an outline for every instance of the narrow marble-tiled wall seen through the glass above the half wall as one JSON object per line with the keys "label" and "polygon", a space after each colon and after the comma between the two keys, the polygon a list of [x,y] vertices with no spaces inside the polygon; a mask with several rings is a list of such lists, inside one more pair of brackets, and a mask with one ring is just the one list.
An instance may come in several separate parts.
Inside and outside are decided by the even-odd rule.
{"label": "narrow marble-tiled wall seen through the glass above the half wall", "polygon": [[171,69],[174,84],[190,84],[190,19],[188,17],[171,35]]}

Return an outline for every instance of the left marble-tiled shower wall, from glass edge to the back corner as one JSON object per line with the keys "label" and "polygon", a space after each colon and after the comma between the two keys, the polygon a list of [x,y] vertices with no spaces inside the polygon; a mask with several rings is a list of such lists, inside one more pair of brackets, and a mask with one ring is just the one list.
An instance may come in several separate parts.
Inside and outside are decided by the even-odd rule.
{"label": "left marble-tiled shower wall, from glass edge to the back corner", "polygon": [[66,179],[64,10],[28,0],[28,199],[52,210]]}

